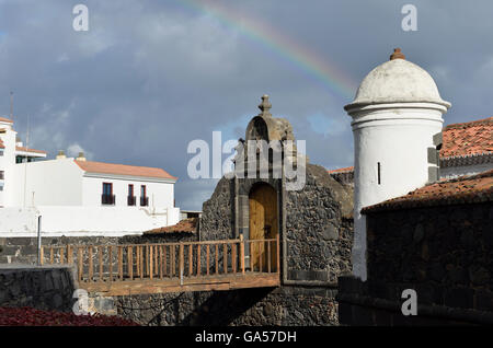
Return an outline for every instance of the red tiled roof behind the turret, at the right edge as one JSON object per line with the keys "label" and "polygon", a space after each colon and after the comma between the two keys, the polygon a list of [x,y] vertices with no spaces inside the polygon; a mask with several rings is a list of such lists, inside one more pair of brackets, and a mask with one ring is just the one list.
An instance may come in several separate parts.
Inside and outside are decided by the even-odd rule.
{"label": "red tiled roof behind the turret, at the right edge", "polygon": [[493,152],[493,117],[445,127],[440,158],[488,152]]}

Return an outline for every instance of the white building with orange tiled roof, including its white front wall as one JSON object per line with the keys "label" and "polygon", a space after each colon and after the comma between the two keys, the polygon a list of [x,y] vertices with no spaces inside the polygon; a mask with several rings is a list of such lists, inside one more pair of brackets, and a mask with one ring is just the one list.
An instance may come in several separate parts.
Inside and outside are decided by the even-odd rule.
{"label": "white building with orange tiled roof, including its white front wall", "polygon": [[0,118],[0,234],[123,235],[175,224],[176,177],[162,169],[66,158],[27,149]]}

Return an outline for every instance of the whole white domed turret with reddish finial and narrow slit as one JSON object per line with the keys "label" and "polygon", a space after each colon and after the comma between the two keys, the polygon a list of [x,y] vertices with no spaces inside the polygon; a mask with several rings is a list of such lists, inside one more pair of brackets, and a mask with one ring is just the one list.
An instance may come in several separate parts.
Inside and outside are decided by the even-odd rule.
{"label": "whole white domed turret with reddish finial and narrow slit", "polygon": [[355,153],[353,272],[366,280],[364,207],[399,197],[436,176],[434,136],[450,103],[433,78],[397,48],[362,82],[344,109],[353,117]]}

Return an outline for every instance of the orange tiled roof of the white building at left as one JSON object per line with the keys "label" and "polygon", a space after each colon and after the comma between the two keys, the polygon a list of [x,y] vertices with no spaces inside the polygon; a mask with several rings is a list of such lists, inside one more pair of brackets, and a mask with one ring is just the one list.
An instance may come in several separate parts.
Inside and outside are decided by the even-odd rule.
{"label": "orange tiled roof of the white building at left", "polygon": [[176,179],[175,176],[170,175],[168,172],[160,167],[148,167],[148,166],[135,166],[126,164],[113,164],[113,163],[102,163],[92,161],[77,161],[77,165],[89,173],[100,173],[100,174],[119,174],[129,176],[146,176],[146,177],[159,177],[159,178],[170,178]]}

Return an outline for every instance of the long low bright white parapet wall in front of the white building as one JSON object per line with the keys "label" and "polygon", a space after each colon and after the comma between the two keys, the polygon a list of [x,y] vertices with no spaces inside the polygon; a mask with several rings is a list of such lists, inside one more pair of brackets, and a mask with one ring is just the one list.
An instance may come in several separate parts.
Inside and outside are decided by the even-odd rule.
{"label": "long low bright white parapet wall in front of the white building", "polygon": [[180,208],[0,208],[0,237],[37,235],[39,216],[44,236],[123,236],[175,224]]}

